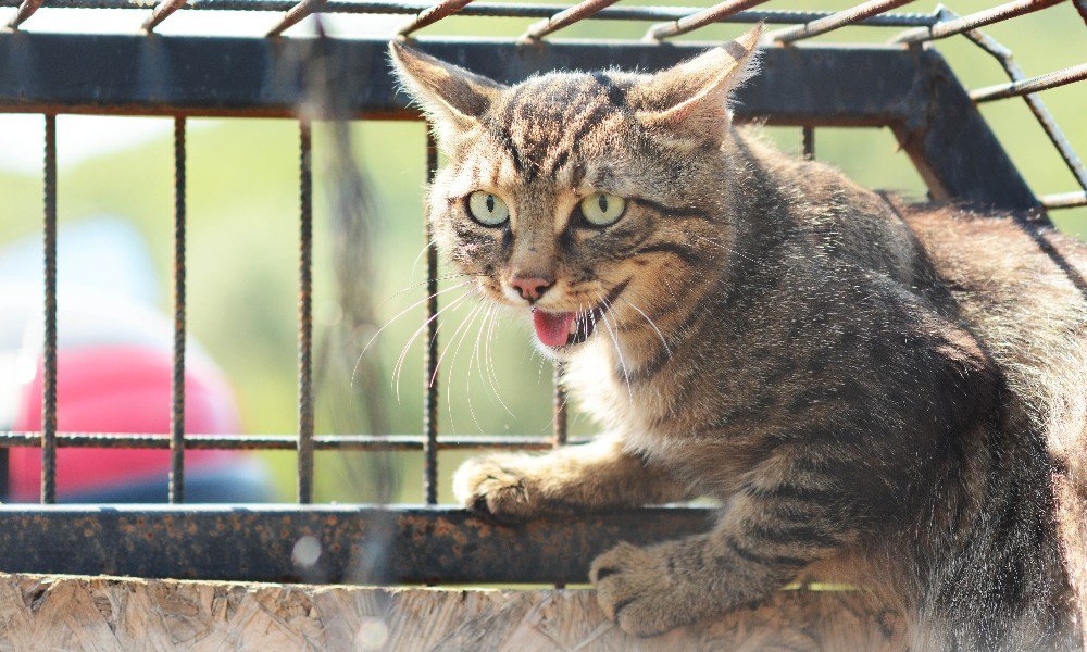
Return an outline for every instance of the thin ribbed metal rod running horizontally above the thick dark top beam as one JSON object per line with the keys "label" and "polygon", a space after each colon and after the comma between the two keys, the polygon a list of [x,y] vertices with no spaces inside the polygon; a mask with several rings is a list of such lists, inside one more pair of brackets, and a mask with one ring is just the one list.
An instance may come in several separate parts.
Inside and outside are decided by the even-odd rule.
{"label": "thin ribbed metal rod running horizontally above the thick dark top beam", "polygon": [[[21,0],[0,0],[0,7],[18,7]],[[186,11],[290,11],[295,0],[189,0]],[[152,0],[50,0],[50,8],[61,9],[136,9],[148,10]],[[322,13],[396,14],[424,12],[432,2],[387,0],[328,0]],[[547,18],[569,9],[565,4],[528,4],[522,2],[473,2],[457,12],[461,16],[504,16]],[[590,20],[604,21],[675,21],[691,13],[688,7],[611,7],[594,14]],[[772,23],[791,25],[807,23],[834,12],[829,11],[750,11],[723,18],[725,23]],[[863,25],[883,27],[919,27],[933,25],[936,17],[921,13],[884,14],[864,21]]]}

